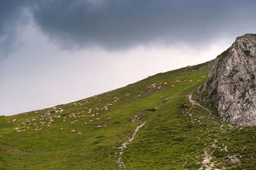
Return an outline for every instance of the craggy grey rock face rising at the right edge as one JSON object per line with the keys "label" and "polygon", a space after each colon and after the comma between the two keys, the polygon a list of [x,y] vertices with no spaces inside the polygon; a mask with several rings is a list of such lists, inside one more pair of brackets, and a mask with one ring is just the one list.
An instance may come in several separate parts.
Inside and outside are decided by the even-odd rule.
{"label": "craggy grey rock face rising at the right edge", "polygon": [[256,34],[245,34],[215,60],[200,100],[215,106],[224,121],[256,125]]}

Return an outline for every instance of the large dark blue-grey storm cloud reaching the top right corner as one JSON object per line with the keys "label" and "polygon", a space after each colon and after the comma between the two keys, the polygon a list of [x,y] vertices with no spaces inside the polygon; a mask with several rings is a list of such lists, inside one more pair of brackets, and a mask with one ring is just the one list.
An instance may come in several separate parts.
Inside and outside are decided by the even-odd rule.
{"label": "large dark blue-grey storm cloud reaching the top right corner", "polygon": [[[224,35],[239,36],[253,31],[256,25],[255,1],[28,2],[36,25],[65,48],[97,45],[123,50],[136,45],[170,45],[182,41],[200,45]],[[18,4],[15,5],[17,8]]]}

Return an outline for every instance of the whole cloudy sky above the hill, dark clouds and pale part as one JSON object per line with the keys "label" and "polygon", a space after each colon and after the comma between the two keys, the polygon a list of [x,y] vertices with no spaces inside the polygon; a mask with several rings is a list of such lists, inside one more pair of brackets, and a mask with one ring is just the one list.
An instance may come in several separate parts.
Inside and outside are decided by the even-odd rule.
{"label": "whole cloudy sky above the hill, dark clouds and pale part", "polygon": [[256,1],[0,0],[0,115],[70,103],[214,59]]}

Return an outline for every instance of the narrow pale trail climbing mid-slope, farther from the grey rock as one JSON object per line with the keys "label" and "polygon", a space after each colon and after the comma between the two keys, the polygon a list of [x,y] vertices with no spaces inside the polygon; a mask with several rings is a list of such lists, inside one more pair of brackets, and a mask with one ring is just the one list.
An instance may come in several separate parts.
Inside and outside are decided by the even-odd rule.
{"label": "narrow pale trail climbing mid-slope, farther from the grey rock", "polygon": [[[161,106],[161,104],[163,104],[165,101],[167,101],[168,99],[170,99],[170,97],[172,97],[172,96],[173,96],[173,95],[171,95],[171,96],[169,96],[169,97],[166,97],[166,99],[164,99],[158,106],[156,106],[155,110],[157,110],[157,108],[159,108],[159,106]],[[150,117],[149,117],[149,118],[150,118]],[[148,118],[148,119],[149,119],[149,118]],[[147,120],[148,120],[148,119],[147,119]],[[123,155],[123,153],[124,153],[124,148],[126,148],[127,145],[133,141],[133,139],[135,138],[136,133],[139,131],[139,129],[140,129],[141,127],[143,127],[143,125],[147,122],[147,120],[146,120],[145,122],[143,122],[143,124],[138,125],[138,126],[136,127],[134,133],[132,134],[132,138],[129,138],[127,141],[125,141],[125,142],[122,144],[122,146],[117,147],[117,149],[120,149],[119,158],[118,158],[118,160],[117,160],[118,166],[119,166],[120,168],[124,168],[124,169],[125,169],[125,167],[126,167],[124,161],[122,161],[122,155]]]}

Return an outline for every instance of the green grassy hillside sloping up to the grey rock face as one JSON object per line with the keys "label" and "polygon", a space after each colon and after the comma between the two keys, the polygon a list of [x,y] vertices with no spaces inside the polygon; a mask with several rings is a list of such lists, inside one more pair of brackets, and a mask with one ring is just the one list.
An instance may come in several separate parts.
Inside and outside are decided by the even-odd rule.
{"label": "green grassy hillside sloping up to the grey rock face", "polygon": [[[255,127],[228,125],[220,121],[214,108],[210,115],[188,101],[188,94],[207,79],[209,69],[206,65],[159,73],[126,87],[76,101],[77,106],[74,103],[56,106],[57,110],[63,109],[63,113],[43,117],[44,120],[40,120],[40,116],[46,109],[38,110],[37,114],[31,111],[0,117],[0,135],[3,136],[0,139],[0,169],[198,169],[212,163],[212,167],[219,169],[253,169],[256,166]],[[181,83],[175,83],[177,80]],[[184,80],[193,80],[193,83]],[[154,83],[156,88],[148,89]],[[161,88],[157,89],[160,83]],[[163,102],[166,97],[170,98]],[[102,110],[107,104],[113,106]],[[159,107],[155,109],[156,106]],[[92,113],[87,114],[85,108],[92,108]],[[70,118],[72,113],[76,118]],[[59,115],[60,118],[54,118]],[[131,122],[136,115],[140,120]],[[54,122],[46,127],[49,117]],[[77,122],[71,125],[75,120]],[[134,141],[124,149],[121,161],[125,167],[118,167],[118,147],[145,121]],[[18,126],[22,122],[26,125]],[[40,125],[40,122],[46,124]],[[99,125],[102,129],[98,129]],[[17,127],[21,132],[13,131]],[[40,128],[41,131],[35,131]],[[207,155],[212,159],[205,163]]]}

